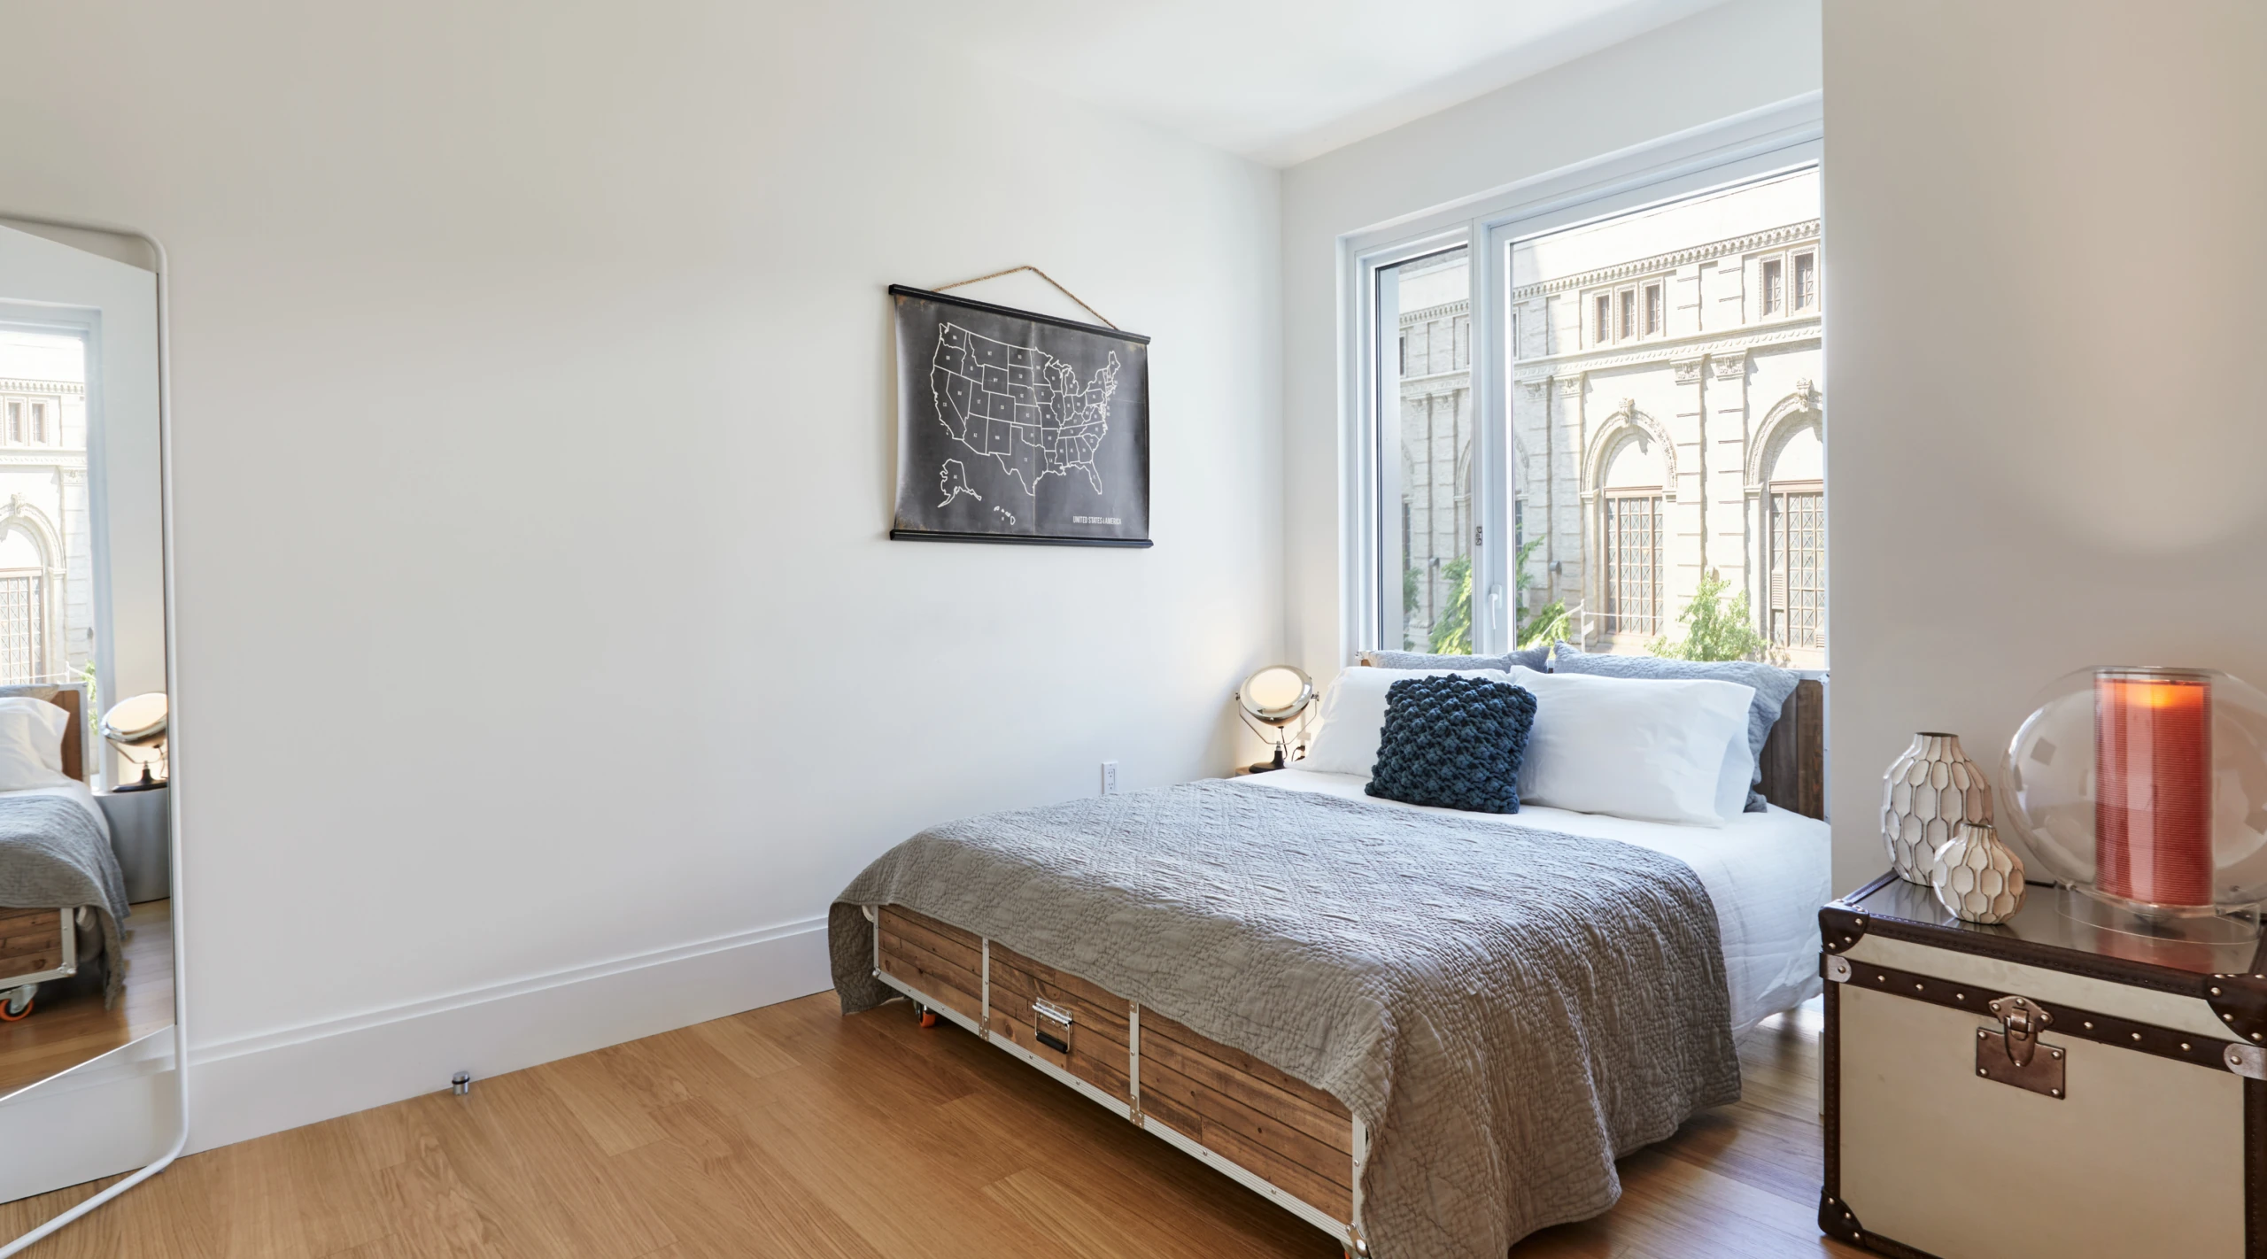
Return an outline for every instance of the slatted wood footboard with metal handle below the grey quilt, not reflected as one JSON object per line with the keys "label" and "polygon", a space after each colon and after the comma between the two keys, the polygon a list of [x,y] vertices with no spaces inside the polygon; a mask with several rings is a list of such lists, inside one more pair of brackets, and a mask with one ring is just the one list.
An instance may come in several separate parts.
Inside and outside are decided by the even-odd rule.
{"label": "slatted wood footboard with metal handle below the grey quilt, not reflected", "polygon": [[884,985],[1369,1252],[1367,1143],[1338,1098],[1004,944],[902,905],[866,916]]}

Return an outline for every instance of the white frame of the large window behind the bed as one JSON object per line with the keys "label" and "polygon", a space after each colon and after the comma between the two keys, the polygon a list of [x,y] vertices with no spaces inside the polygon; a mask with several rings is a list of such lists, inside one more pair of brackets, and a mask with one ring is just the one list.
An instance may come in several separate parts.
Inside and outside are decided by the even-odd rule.
{"label": "white frame of the large window behind the bed", "polygon": [[[1387,624],[1385,599],[1385,576],[1401,554],[1401,515],[1387,510],[1387,504],[1399,501],[1399,460],[1381,458],[1381,451],[1396,449],[1381,442],[1394,436],[1399,408],[1385,406],[1385,388],[1394,381],[1378,374],[1381,363],[1396,361],[1387,356],[1394,345],[1385,338],[1399,329],[1383,327],[1387,320],[1378,318],[1381,309],[1399,309],[1390,293],[1396,279],[1392,268],[1460,245],[1471,250],[1471,404],[1478,417],[1471,476],[1471,640],[1476,653],[1501,653],[1510,647],[1512,615],[1512,426],[1505,411],[1510,363],[1498,329],[1510,327],[1512,243],[1723,184],[1816,166],[1823,147],[1820,93],[1807,93],[1338,238],[1344,662],[1401,642],[1394,633],[1399,624]],[[1598,293],[1614,290],[1585,293],[1585,336],[1596,331],[1591,320]],[[1664,293],[1664,306],[1666,299]],[[1666,320],[1664,311],[1664,331]],[[1644,329],[1644,311],[1637,327]],[[1392,615],[1399,615],[1399,601]]]}

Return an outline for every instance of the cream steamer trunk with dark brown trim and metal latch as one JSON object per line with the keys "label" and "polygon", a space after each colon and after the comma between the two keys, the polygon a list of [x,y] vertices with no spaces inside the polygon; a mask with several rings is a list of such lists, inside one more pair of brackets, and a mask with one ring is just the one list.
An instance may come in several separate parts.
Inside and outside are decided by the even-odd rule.
{"label": "cream steamer trunk with dark brown trim and metal latch", "polygon": [[2267,1259],[2267,955],[2002,928],[1891,876],[1820,910],[1825,1234],[1934,1259]]}

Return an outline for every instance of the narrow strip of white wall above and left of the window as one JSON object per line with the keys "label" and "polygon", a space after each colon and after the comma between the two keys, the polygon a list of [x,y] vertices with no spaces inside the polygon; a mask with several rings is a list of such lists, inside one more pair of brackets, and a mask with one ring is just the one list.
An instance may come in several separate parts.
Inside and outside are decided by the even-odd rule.
{"label": "narrow strip of white wall above and left of the window", "polygon": [[1818,91],[1818,0],[1734,0],[1283,172],[1288,649],[1342,637],[1338,238]]}

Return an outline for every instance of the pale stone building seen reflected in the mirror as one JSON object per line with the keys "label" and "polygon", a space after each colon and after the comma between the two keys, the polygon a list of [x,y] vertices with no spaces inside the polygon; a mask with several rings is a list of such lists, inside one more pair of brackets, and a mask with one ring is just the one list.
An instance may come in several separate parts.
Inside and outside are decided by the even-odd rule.
{"label": "pale stone building seen reflected in the mirror", "polygon": [[77,681],[95,651],[79,347],[0,338],[0,685]]}

